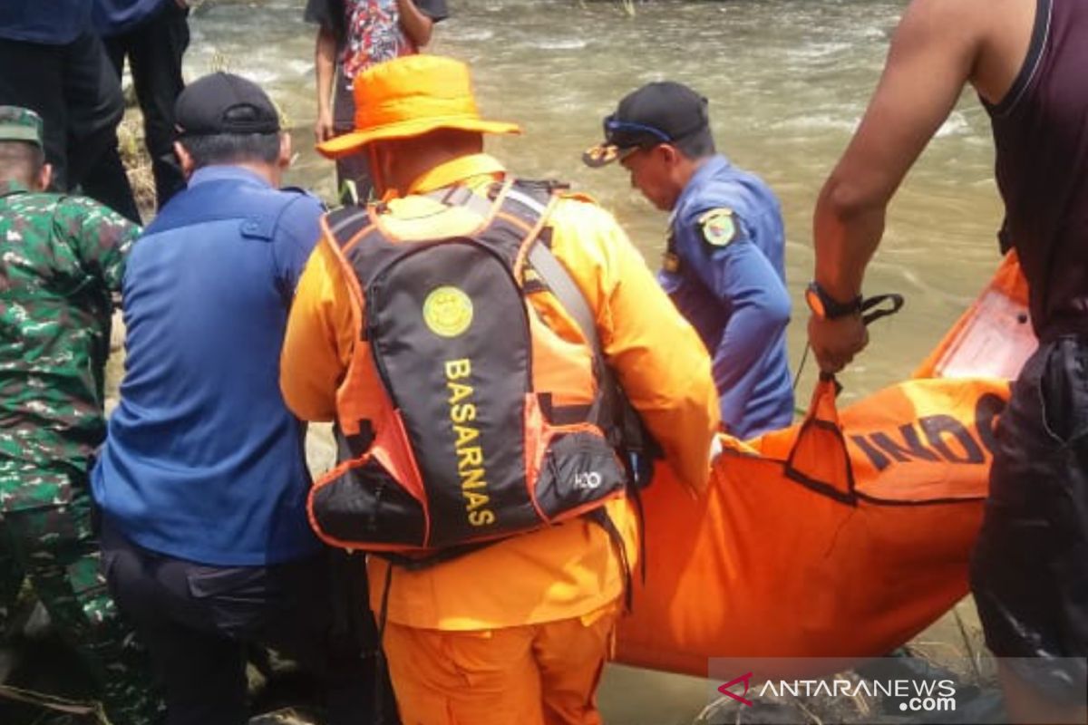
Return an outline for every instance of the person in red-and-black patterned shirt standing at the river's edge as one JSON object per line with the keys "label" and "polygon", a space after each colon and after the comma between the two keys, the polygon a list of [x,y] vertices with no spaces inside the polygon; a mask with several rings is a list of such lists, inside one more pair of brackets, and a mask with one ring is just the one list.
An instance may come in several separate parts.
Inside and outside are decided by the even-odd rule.
{"label": "person in red-and-black patterned shirt standing at the river's edge", "polygon": [[[446,0],[307,0],[306,20],[318,25],[318,143],[355,127],[355,77],[375,63],[410,55],[431,41],[434,24],[449,15]],[[336,161],[343,203],[366,202],[372,182],[364,157]]]}

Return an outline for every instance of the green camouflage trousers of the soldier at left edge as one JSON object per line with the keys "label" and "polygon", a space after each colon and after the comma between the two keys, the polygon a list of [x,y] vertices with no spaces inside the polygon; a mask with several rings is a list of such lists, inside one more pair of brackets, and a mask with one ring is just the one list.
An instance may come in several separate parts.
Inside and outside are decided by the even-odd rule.
{"label": "green camouflage trousers of the soldier at left edge", "polygon": [[99,573],[90,507],[79,488],[64,505],[0,513],[0,624],[28,579],[53,626],[83,654],[112,725],[159,723],[164,710],[147,650]]}

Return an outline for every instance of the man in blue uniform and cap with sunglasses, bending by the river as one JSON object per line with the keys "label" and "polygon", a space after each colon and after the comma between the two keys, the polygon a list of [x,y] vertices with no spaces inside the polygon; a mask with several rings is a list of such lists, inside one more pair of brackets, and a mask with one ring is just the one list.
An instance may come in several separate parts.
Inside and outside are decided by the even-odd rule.
{"label": "man in blue uniform and cap with sunglasses, bending by the river", "polygon": [[679,83],[629,93],[604,132],[582,160],[618,159],[631,185],[671,212],[658,280],[714,359],[727,432],[750,438],[790,425],[790,296],[775,193],[715,152],[706,99]]}

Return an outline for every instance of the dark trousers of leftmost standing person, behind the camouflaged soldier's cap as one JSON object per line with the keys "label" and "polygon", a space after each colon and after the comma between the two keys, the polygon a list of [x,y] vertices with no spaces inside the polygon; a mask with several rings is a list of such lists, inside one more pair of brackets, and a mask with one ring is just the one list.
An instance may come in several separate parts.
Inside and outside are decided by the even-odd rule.
{"label": "dark trousers of leftmost standing person, behind the camouflaged soldier's cap", "polygon": [[110,147],[124,114],[121,83],[87,33],[65,46],[0,39],[0,105],[36,111],[45,123],[53,187],[79,186]]}

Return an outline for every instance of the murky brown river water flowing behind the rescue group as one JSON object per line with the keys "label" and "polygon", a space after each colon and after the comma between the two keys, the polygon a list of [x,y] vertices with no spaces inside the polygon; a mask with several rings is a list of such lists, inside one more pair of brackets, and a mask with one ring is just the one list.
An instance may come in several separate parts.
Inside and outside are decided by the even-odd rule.
{"label": "murky brown river water flowing behind the rescue group", "polygon": [[[225,67],[263,84],[293,127],[299,158],[290,180],[327,198],[331,165],[311,145],[313,28],[302,22],[302,4],[209,0],[191,20],[186,75]],[[452,16],[429,51],[467,60],[483,113],[523,126],[524,136],[490,140],[490,150],[522,176],[562,178],[595,196],[654,265],[665,215],[621,170],[592,171],[579,158],[599,139],[601,118],[643,83],[680,80],[709,98],[719,150],[761,174],[782,200],[795,370],[815,199],[864,111],[904,5],[656,0],[629,15],[608,1],[449,0]],[[865,291],[902,292],[906,307],[877,324],[866,353],[840,376],[845,400],[910,375],[997,266],[992,164],[986,114],[965,93],[890,210]],[[802,404],[814,372],[809,362]],[[697,680],[619,667],[606,674],[602,701],[608,722],[630,725],[690,723],[706,702]]]}

